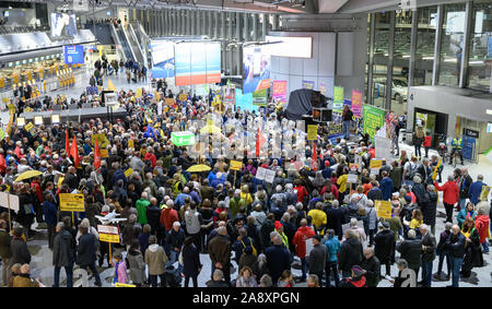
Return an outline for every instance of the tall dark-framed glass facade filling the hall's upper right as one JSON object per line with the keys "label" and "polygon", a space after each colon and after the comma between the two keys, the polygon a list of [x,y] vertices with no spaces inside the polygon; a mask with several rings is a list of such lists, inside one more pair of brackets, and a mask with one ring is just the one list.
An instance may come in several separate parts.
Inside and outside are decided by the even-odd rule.
{"label": "tall dark-framed glass facade filling the hall's upper right", "polygon": [[[465,2],[458,2],[395,12],[393,72],[388,72],[388,60],[391,59],[390,14],[388,11],[373,13],[374,28],[371,17],[367,19],[365,102],[385,107],[386,97],[391,96],[389,108],[399,115],[403,114],[407,110],[410,76],[413,86],[464,86],[492,93],[492,1],[478,0],[468,7]],[[412,19],[412,14],[418,15]],[[412,29],[415,34],[413,41]],[[372,46],[371,31],[375,34]],[[469,40],[465,41],[468,37]],[[414,55],[412,72],[409,71],[411,55]],[[389,76],[391,90],[386,90]]]}

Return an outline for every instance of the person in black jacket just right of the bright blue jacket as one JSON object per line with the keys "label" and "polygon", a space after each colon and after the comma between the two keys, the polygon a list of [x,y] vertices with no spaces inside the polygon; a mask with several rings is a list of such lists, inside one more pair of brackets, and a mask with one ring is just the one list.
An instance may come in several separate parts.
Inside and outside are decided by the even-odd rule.
{"label": "person in black jacket just right of the bright blue jacket", "polygon": [[340,247],[338,257],[339,270],[342,271],[343,278],[352,275],[352,266],[359,265],[363,259],[362,243],[359,240],[359,233],[354,229],[345,230],[347,240]]}

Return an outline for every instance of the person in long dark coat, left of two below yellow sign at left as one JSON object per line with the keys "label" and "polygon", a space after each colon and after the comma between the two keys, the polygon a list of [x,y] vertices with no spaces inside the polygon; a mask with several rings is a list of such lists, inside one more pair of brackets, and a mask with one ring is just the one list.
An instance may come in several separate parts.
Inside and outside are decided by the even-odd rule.
{"label": "person in long dark coat, left of two below yellow sign at left", "polygon": [[59,222],[56,227],[52,247],[52,265],[55,266],[54,287],[60,285],[60,271],[65,268],[67,273],[67,287],[73,286],[73,257],[72,257],[72,235],[65,229],[65,224]]}

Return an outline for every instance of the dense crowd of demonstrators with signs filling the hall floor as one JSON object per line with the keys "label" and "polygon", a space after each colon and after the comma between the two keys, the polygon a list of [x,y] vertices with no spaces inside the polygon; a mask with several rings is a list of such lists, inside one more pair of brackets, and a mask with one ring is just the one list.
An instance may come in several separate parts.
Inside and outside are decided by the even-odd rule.
{"label": "dense crowd of demonstrators with signs filling the hall floor", "polygon": [[[165,83],[159,90],[162,98],[173,96]],[[421,286],[450,277],[452,286],[458,286],[489,253],[491,207],[480,200],[483,176],[473,179],[466,168],[457,168],[442,183],[436,155],[419,158],[400,150],[398,158],[383,159],[379,170],[371,173],[371,139],[330,143],[320,128],[316,147],[309,142],[301,166],[293,168],[291,163],[300,158],[280,152],[278,157],[234,157],[242,167],[233,170],[225,156],[210,152],[192,157],[188,147],[171,142],[172,132],[212,114],[210,102],[176,99],[160,112],[145,90],[140,98],[121,90],[118,100],[127,115],[116,122],[96,118],[32,131],[13,124],[0,142],[0,189],[20,198],[12,223],[8,210],[0,209],[2,285],[44,285],[31,278],[27,250],[40,229],[47,229],[56,287],[62,268],[67,286],[73,286],[74,268],[89,269],[96,286],[102,286],[102,268],[114,268],[114,283],[187,287],[192,282],[196,287],[203,254],[210,258],[207,286],[214,287],[303,282],[374,287],[382,280],[408,286],[419,276]],[[284,120],[282,111],[269,109],[230,109],[219,117],[238,123],[257,117],[279,124]],[[101,134],[107,142],[98,141],[98,148],[108,151],[105,158],[94,143]],[[214,139],[224,135],[219,132]],[[188,171],[197,164],[208,166],[207,171]],[[257,178],[260,168],[274,170],[272,182]],[[28,170],[42,175],[15,181]],[[350,182],[353,175],[356,180]],[[446,209],[444,230],[435,228],[438,191]],[[82,193],[85,212],[72,216],[60,211],[60,193]],[[390,218],[378,215],[378,201],[390,202]],[[109,248],[99,240],[96,216],[112,213],[126,221],[108,223],[120,233],[120,243]],[[399,272],[391,276],[395,263]],[[294,277],[293,268],[302,275]]]}

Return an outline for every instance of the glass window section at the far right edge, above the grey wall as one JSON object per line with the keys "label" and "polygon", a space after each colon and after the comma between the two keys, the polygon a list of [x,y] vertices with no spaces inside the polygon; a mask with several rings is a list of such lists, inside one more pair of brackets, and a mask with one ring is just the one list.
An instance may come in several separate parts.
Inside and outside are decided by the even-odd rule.
{"label": "glass window section at the far right edge, above the grey wall", "polygon": [[469,43],[468,87],[492,90],[492,2],[475,3]]}

